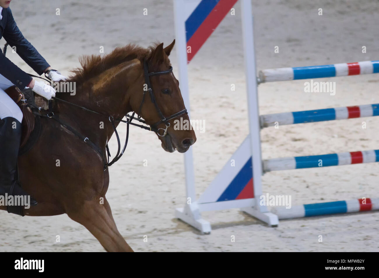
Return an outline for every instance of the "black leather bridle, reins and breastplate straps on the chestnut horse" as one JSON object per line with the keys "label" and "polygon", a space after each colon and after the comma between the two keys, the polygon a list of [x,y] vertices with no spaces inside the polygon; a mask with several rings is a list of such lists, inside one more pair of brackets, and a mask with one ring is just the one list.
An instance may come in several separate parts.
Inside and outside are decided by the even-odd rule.
{"label": "black leather bridle, reins and breastplate straps on the chestnut horse", "polygon": [[[160,108],[158,107],[157,101],[155,99],[154,92],[153,92],[153,89],[152,89],[151,84],[150,84],[150,76],[153,76],[153,75],[164,75],[164,74],[171,73],[172,72],[172,66],[170,66],[170,68],[168,70],[165,70],[165,71],[155,71],[155,72],[150,72],[150,73],[149,73],[149,70],[148,70],[146,59],[143,62],[143,66],[144,66],[144,77],[145,77],[145,82],[147,84],[147,90],[144,90],[144,92],[143,92],[142,101],[141,101],[141,104],[139,105],[139,109],[138,109],[138,113],[137,113],[137,115],[138,115],[137,118],[135,118],[135,116],[134,116],[135,112],[133,112],[132,115],[129,115],[129,114],[125,115],[126,118],[127,118],[126,121],[118,119],[118,118],[114,119],[113,116],[108,116],[108,115],[105,115],[103,113],[99,113],[99,112],[87,109],[87,108],[85,108],[83,106],[79,106],[77,104],[70,103],[70,102],[65,101],[63,99],[60,99],[60,98],[56,98],[56,97],[53,98],[56,101],[60,101],[60,102],[66,103],[66,104],[70,104],[72,106],[78,107],[78,108],[80,108],[82,110],[85,110],[87,112],[91,112],[91,113],[95,113],[95,114],[98,114],[98,115],[102,115],[102,116],[108,117],[108,120],[112,123],[113,131],[116,134],[118,148],[117,148],[117,154],[116,154],[116,156],[113,158],[113,160],[111,162],[109,162],[109,158],[110,158],[111,155],[110,155],[108,144],[106,144],[105,148],[106,148],[106,152],[107,152],[108,158],[107,158],[107,162],[104,163],[104,171],[108,168],[108,166],[111,166],[113,163],[117,162],[117,160],[119,160],[121,158],[121,156],[124,154],[126,146],[128,144],[129,125],[130,124],[132,124],[133,126],[141,127],[143,129],[151,130],[151,131],[155,132],[160,137],[165,137],[167,135],[167,129],[170,127],[169,121],[172,120],[172,119],[174,119],[174,118],[176,118],[176,117],[178,117],[178,116],[181,116],[183,114],[187,114],[188,113],[187,109],[183,109],[182,111],[179,111],[179,112],[177,112],[175,114],[172,114],[171,116],[165,117],[163,115],[163,113],[161,112]],[[31,75],[31,76],[33,76],[33,75]],[[39,76],[34,76],[34,77],[41,78]],[[47,77],[47,76],[45,75],[45,77]],[[47,78],[50,79],[49,77],[47,77]],[[44,78],[41,78],[41,79],[44,79]],[[46,80],[46,79],[44,79],[44,80]],[[142,106],[143,106],[143,103],[144,103],[146,92],[149,92],[150,99],[151,99],[152,103],[154,104],[155,109],[157,110],[157,112],[158,112],[158,114],[159,114],[159,116],[161,118],[161,120],[159,120],[157,123],[152,124],[152,125],[147,124],[145,120],[141,119],[141,109],[142,109]],[[41,107],[37,107],[37,106],[33,106],[33,107],[37,108],[39,110],[39,112],[44,111],[44,109],[42,109]],[[42,115],[39,112],[34,112],[34,113],[36,115],[45,116],[47,118],[52,118],[52,119],[58,121],[58,123],[60,123],[63,127],[65,127],[66,129],[70,130],[72,133],[74,133],[75,135],[77,135],[77,137],[81,138],[85,143],[88,143],[93,149],[95,149],[97,152],[99,152],[101,156],[103,156],[103,151],[99,148],[99,146],[97,146],[91,140],[89,140],[88,137],[85,137],[84,135],[80,134],[77,130],[73,129],[69,124],[64,123],[58,116],[56,116],[54,114],[54,112],[52,111],[52,101],[51,100],[49,101],[49,111],[45,111],[45,112],[47,112],[46,115]],[[133,119],[139,121],[142,124],[146,124],[149,127],[144,126],[142,124],[132,123]],[[127,132],[126,132],[125,144],[124,144],[124,148],[122,148],[121,153],[120,153],[120,149],[121,149],[120,137],[119,137],[117,129],[116,129],[115,121],[119,121],[119,122],[123,122],[123,123],[127,124]],[[166,125],[166,127],[165,128],[158,128],[158,126],[160,124],[163,124],[163,123]],[[160,130],[163,130],[162,134],[160,134]]]}

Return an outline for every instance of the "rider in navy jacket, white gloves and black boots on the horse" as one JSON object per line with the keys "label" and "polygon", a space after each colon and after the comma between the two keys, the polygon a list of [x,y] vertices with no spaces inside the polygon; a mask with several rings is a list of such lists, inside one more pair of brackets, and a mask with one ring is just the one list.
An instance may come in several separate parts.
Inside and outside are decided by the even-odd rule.
{"label": "rider in navy jacket, white gloves and black boots on the horse", "polygon": [[[0,39],[4,37],[17,54],[41,75],[48,73],[53,81],[66,80],[38,53],[33,45],[22,35],[13,19],[9,3],[11,0],[0,0]],[[43,81],[32,79],[27,73],[13,64],[0,51],[0,196],[28,196],[21,188],[16,177],[17,157],[21,140],[22,112],[4,90],[16,85],[20,90],[25,86],[46,99],[55,96],[56,91]],[[30,197],[30,205],[37,205]],[[9,206],[8,206],[8,212]]]}

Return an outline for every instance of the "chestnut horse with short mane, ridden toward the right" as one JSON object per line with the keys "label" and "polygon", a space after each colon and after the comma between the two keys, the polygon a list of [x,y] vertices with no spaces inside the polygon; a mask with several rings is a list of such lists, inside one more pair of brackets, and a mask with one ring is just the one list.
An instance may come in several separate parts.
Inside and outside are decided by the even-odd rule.
{"label": "chestnut horse with short mane, ridden toward the right", "polygon": [[[106,251],[133,251],[117,230],[105,198],[109,185],[108,168],[104,170],[105,150],[114,133],[108,118],[121,119],[132,111],[139,113],[146,124],[156,124],[157,129],[166,130],[165,136],[160,136],[163,132],[156,133],[162,148],[168,152],[175,149],[185,152],[196,141],[192,129],[175,130],[174,118],[170,117],[177,118],[175,114],[182,111],[178,116],[189,121],[188,115],[183,113],[185,106],[179,82],[168,58],[174,43],[175,40],[166,48],[161,43],[147,49],[127,45],[104,57],[92,55],[81,59],[82,68],[74,70],[74,76],[68,80],[76,82],[76,94],[57,93],[56,97],[64,101],[55,101],[53,111],[64,123],[88,137],[102,154],[58,121],[42,117],[38,142],[18,160],[21,185],[38,201],[37,206],[23,209],[25,215],[67,213],[85,226]],[[147,79],[146,70],[150,73]],[[151,74],[158,71],[163,74]],[[155,98],[148,94],[144,97],[150,86]],[[168,117],[166,121],[162,116],[163,119]],[[6,207],[0,208],[6,210]]]}

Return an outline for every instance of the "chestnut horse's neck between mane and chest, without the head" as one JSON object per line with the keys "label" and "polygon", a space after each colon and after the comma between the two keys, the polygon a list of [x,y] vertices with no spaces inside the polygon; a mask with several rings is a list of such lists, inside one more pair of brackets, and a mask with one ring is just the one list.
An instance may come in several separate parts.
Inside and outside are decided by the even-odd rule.
{"label": "chestnut horse's neck between mane and chest, without the head", "polygon": [[[138,60],[137,60],[138,61]],[[69,122],[93,143],[105,148],[114,133],[109,116],[122,119],[132,111],[130,97],[136,84],[143,84],[143,73],[139,61],[124,62],[104,71],[99,76],[77,86],[77,94],[62,97],[70,103],[101,113],[91,113],[69,104],[58,103],[61,115],[69,115]],[[139,64],[139,66],[138,66]],[[126,84],[125,80],[128,81]],[[119,121],[114,121],[117,127]]]}

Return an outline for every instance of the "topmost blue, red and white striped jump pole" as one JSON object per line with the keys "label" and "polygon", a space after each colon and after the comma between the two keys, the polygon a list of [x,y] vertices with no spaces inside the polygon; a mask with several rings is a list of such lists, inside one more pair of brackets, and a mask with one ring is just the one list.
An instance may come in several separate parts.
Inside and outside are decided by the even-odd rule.
{"label": "topmost blue, red and white striped jump pole", "polygon": [[259,83],[379,73],[379,60],[311,67],[271,68],[259,72]]}

